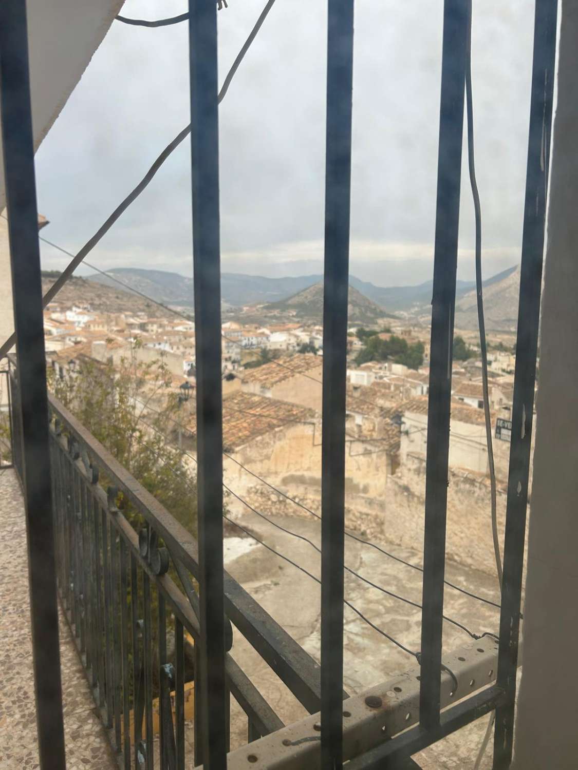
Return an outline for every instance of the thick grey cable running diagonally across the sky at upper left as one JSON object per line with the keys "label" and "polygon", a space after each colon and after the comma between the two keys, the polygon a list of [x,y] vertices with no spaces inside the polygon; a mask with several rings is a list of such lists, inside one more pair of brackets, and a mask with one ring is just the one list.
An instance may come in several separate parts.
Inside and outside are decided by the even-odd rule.
{"label": "thick grey cable running diagonally across the sky at upper left", "polygon": [[[265,5],[263,11],[260,13],[259,18],[257,19],[257,22],[254,25],[254,28],[251,30],[249,37],[245,41],[243,47],[240,49],[240,52],[237,54],[237,58],[234,60],[233,64],[230,67],[229,72],[227,73],[227,77],[225,78],[223,85],[221,86],[219,95],[217,97],[217,102],[220,103],[223,101],[225,95],[227,94],[227,91],[229,89],[230,83],[234,78],[235,73],[237,72],[237,69],[239,69],[240,63],[243,61],[245,55],[247,54],[247,51],[250,49],[251,43],[254,41],[255,37],[257,36],[257,32],[259,32],[261,26],[263,25],[265,18],[267,18],[268,13],[271,11],[271,8],[274,5],[275,0],[269,0],[267,2],[267,5]],[[171,152],[175,150],[181,142],[183,142],[183,139],[185,139],[190,134],[191,124],[189,123],[188,126],[186,126],[182,131],[180,131],[172,142],[170,142],[165,149],[163,149],[163,152],[160,153],[160,156],[153,162],[153,165],[150,167],[150,169],[146,172],[145,176],[143,176],[143,179],[140,180],[140,182],[136,185],[136,187],[132,190],[132,192],[129,192],[129,194],[126,196],[126,198],[122,201],[122,203],[119,204],[119,206],[116,206],[116,209],[113,211],[113,213],[106,219],[106,221],[99,227],[99,229],[96,231],[96,233],[90,238],[84,246],[82,246],[82,249],[80,249],[79,253],[76,254],[74,259],[72,259],[72,262],[70,262],[65,269],[62,270],[62,273],[60,273],[57,280],[55,280],[55,283],[52,284],[52,286],[49,288],[49,290],[45,293],[45,295],[42,297],[42,307],[45,307],[48,305],[48,303],[52,300],[52,298],[59,292],[59,290],[62,289],[62,286],[66,283],[67,280],[72,276],[72,273],[76,270],[76,268],[79,266],[79,264],[82,263],[84,258],[94,249],[97,243],[106,235],[106,233],[109,232],[109,229],[113,226],[114,223],[116,223],[116,220],[119,219],[119,217],[126,211],[126,209],[129,208],[130,204],[133,203],[140,195],[141,192],[143,192],[144,189],[150,184],[153,177],[155,176],[156,172],[160,169],[160,167],[163,165],[163,163],[166,161],[166,159],[170,156]],[[6,353],[8,353],[8,350],[11,349],[12,345],[15,343],[15,333],[12,333],[8,340],[3,343],[2,347],[0,347],[0,360],[5,357]]]}

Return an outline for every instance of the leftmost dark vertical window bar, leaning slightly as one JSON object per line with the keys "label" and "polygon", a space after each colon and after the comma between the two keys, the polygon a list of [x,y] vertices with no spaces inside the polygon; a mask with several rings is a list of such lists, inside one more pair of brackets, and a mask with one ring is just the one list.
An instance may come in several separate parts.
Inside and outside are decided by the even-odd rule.
{"label": "leftmost dark vertical window bar, leaning slightly", "polygon": [[22,429],[32,666],[42,770],[64,768],[42,281],[25,0],[0,5],[0,113]]}

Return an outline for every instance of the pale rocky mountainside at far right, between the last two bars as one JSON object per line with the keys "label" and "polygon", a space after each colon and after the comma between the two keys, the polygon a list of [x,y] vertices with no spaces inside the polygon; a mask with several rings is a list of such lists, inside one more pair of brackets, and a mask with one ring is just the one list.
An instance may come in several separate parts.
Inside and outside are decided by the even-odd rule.
{"label": "pale rocky mountainside at far right, between the last two bars", "polygon": [[[490,331],[516,331],[519,299],[519,266],[484,283],[484,316]],[[455,304],[455,326],[478,328],[476,290],[469,291]]]}

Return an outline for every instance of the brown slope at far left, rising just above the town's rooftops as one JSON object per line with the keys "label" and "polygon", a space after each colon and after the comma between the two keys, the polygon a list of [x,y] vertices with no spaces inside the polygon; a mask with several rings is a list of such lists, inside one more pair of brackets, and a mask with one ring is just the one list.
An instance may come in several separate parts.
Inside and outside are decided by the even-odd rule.
{"label": "brown slope at far left, rising just above the town's rooftops", "polygon": [[[42,293],[45,294],[55,282],[56,276],[42,276]],[[97,313],[146,313],[148,316],[173,317],[173,313],[163,310],[142,297],[126,292],[119,286],[104,286],[86,278],[70,278],[54,298],[55,302],[72,305],[73,303],[89,303]]]}

